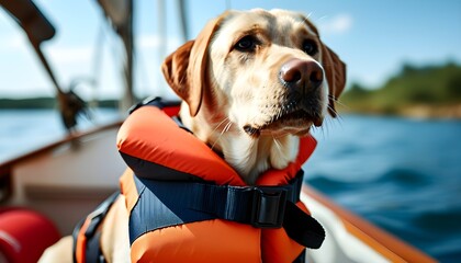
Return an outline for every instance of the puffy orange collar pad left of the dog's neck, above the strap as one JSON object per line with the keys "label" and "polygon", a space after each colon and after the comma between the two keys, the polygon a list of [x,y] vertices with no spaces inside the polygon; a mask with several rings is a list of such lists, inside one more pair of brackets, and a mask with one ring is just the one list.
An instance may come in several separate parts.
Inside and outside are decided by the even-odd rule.
{"label": "puffy orange collar pad left of the dog's neck, above the strap", "polygon": [[[178,128],[170,116],[155,106],[139,107],[126,118],[119,130],[117,147],[125,161],[134,158],[127,164],[137,176],[151,176],[151,170],[144,168],[154,163],[216,184],[246,185],[209,146]],[[169,174],[156,174],[156,179],[175,180]]]}

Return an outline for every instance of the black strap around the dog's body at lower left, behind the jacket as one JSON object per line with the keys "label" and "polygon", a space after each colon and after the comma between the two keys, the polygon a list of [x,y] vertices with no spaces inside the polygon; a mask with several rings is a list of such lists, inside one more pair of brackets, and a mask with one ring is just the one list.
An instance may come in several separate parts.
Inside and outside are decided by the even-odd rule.
{"label": "black strap around the dog's body at lower left, behind the jacket", "polygon": [[[99,226],[104,220],[105,216],[108,215],[109,209],[111,208],[112,204],[116,201],[120,193],[113,193],[109,198],[102,202],[94,211],[92,211],[87,218],[91,218],[90,225],[85,230],[85,237],[87,238],[87,245],[85,251],[86,262],[95,262],[95,263],[105,263],[104,255],[102,254],[101,250],[101,231]],[[74,229],[72,238],[74,238],[74,262],[77,263],[76,258],[76,250],[77,250],[77,239],[78,235],[81,231],[81,227],[83,226],[87,218],[83,218],[77,227]]]}

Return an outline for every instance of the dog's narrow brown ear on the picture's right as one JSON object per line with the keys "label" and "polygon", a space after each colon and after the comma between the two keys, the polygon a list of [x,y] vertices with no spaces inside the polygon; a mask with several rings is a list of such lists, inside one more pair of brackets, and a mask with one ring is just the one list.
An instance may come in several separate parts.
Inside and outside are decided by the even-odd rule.
{"label": "dog's narrow brown ear on the picture's right", "polygon": [[328,112],[331,116],[336,117],[335,101],[346,85],[346,64],[326,45],[322,45],[322,66],[324,67],[328,81]]}

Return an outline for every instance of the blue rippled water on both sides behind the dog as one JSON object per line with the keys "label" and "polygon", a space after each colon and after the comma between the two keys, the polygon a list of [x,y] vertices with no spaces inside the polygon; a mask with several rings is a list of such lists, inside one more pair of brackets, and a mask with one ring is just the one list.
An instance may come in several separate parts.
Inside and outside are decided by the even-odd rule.
{"label": "blue rippled water on both sides behind the dog", "polygon": [[[104,123],[117,115],[94,116]],[[55,111],[0,111],[0,162],[65,136]],[[328,121],[315,132],[306,181],[441,262],[461,262],[460,135],[456,121]]]}

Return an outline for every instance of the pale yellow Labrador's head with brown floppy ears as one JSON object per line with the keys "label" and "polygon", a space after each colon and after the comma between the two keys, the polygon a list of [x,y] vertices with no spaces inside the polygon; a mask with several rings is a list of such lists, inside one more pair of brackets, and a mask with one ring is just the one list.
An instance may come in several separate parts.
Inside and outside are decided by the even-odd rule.
{"label": "pale yellow Labrador's head with brown floppy ears", "polygon": [[225,12],[162,71],[191,116],[202,111],[213,125],[228,118],[251,137],[306,135],[327,112],[336,116],[346,81],[345,64],[316,27],[284,10]]}

